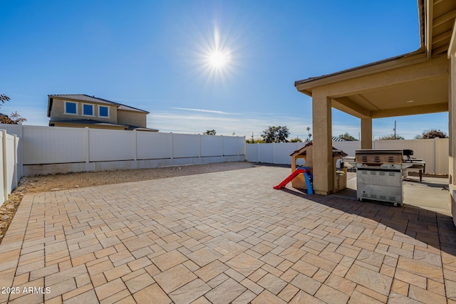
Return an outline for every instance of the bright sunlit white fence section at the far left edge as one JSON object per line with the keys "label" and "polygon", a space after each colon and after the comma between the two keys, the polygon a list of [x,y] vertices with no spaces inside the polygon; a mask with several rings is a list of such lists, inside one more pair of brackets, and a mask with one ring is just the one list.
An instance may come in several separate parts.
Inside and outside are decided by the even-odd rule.
{"label": "bright sunlit white fence section at the far left edge", "polygon": [[17,187],[17,151],[19,138],[0,130],[0,205],[8,199],[8,194]]}

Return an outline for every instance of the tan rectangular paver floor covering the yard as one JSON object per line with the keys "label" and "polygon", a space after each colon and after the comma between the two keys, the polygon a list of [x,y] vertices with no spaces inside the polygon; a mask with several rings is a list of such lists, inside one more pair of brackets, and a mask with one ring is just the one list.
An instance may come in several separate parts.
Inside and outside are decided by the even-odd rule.
{"label": "tan rectangular paver floor covering the yard", "polygon": [[0,303],[456,303],[449,214],[272,189],[288,174],[26,195]]}

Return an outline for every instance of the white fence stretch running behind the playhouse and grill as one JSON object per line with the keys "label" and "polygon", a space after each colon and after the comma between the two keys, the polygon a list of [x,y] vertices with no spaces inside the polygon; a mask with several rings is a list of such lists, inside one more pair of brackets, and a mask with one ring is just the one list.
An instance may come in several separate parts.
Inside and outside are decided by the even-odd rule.
{"label": "white fence stretch running behind the playhouse and grill", "polygon": [[[247,144],[246,159],[249,162],[291,164],[290,154],[306,145],[306,142],[281,142],[276,144]],[[333,142],[333,147],[355,156],[361,142]],[[413,157],[426,162],[426,173],[448,174],[449,139],[432,140],[375,140],[373,149],[410,149]],[[301,164],[301,163],[299,163]]]}

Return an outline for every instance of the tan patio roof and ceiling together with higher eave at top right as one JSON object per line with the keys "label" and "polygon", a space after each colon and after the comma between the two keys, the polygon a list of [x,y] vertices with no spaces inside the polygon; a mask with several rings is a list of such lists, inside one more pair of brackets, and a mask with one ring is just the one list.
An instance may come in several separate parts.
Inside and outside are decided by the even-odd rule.
{"label": "tan patio roof and ceiling together with higher eave at top right", "polygon": [[447,51],[456,1],[418,0],[421,47],[414,52],[329,75],[298,80],[299,92],[324,91],[333,108],[359,118],[448,111]]}

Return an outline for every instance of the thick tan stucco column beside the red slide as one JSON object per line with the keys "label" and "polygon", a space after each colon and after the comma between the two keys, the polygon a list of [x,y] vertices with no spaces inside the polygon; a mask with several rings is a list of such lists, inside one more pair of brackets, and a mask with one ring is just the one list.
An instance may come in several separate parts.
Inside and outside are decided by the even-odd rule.
{"label": "thick tan stucco column beside the red slide", "polygon": [[312,93],[312,125],[314,129],[314,193],[330,194],[333,190],[333,149],[331,99],[324,93]]}

